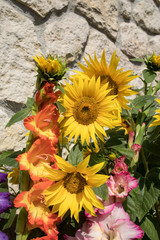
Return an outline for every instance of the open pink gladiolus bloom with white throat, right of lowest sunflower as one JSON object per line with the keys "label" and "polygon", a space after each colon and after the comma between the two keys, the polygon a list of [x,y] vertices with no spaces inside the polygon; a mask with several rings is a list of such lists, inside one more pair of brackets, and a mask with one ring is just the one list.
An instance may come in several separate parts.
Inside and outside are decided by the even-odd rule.
{"label": "open pink gladiolus bloom with white throat, right of lowest sunflower", "polygon": [[127,197],[129,192],[138,186],[136,178],[131,177],[130,173],[120,173],[110,176],[107,181],[109,189],[109,196],[116,196],[117,198]]}

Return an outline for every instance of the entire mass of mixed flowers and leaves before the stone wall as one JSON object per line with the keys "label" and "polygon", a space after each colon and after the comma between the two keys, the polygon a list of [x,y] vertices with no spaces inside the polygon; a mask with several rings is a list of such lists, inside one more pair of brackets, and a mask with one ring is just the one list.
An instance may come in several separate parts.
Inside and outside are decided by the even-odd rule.
{"label": "entire mass of mixed flowers and leaves before the stone wall", "polygon": [[132,59],[137,76],[103,50],[69,81],[60,58],[34,60],[34,97],[6,126],[23,120],[26,148],[0,156],[0,239],[158,240],[160,57]]}

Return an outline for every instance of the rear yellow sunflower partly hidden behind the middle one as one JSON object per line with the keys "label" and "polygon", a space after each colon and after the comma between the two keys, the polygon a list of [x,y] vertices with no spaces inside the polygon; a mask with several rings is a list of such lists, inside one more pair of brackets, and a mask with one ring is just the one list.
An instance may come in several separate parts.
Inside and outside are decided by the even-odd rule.
{"label": "rear yellow sunflower partly hidden behind the middle one", "polygon": [[137,76],[132,76],[132,70],[129,71],[122,71],[123,69],[117,69],[119,57],[116,58],[116,51],[113,53],[111,57],[111,61],[109,66],[106,62],[105,57],[105,49],[102,52],[101,61],[99,62],[96,56],[96,52],[94,55],[94,60],[89,55],[90,62],[86,59],[85,62],[87,63],[87,67],[79,63],[80,68],[83,70],[75,71],[77,74],[71,76],[71,80],[77,79],[79,77],[82,78],[85,75],[89,78],[95,75],[96,79],[98,77],[101,78],[101,85],[105,84],[106,82],[109,83],[108,87],[112,88],[110,94],[116,95],[115,101],[124,109],[129,109],[127,103],[129,101],[125,98],[125,96],[130,96],[136,94],[137,92],[131,90],[132,86],[127,85],[131,80],[137,78]]}

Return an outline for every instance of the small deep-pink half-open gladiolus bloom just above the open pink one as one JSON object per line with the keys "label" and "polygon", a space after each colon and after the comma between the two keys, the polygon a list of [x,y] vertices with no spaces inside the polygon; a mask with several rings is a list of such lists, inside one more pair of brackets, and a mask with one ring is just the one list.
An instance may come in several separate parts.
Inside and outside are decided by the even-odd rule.
{"label": "small deep-pink half-open gladiolus bloom just above the open pink one", "polygon": [[125,164],[126,156],[122,156],[119,159],[116,159],[114,169],[111,173],[113,174],[120,174],[128,172],[128,166]]}

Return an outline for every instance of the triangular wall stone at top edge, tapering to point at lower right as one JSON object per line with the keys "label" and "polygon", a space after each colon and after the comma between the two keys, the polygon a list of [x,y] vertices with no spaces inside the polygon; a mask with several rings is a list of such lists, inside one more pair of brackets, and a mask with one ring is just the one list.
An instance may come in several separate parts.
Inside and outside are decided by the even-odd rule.
{"label": "triangular wall stone at top edge, tapering to point at lower right", "polygon": [[75,9],[91,24],[116,39],[118,32],[117,0],[77,0]]}

